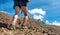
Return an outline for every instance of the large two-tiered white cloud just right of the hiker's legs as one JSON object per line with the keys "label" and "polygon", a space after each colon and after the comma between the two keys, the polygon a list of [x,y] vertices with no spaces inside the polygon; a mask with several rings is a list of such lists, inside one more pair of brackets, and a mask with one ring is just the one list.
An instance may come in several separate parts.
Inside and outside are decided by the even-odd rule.
{"label": "large two-tiered white cloud just right of the hiker's legs", "polygon": [[[41,21],[43,20],[44,15],[46,14],[45,11],[43,11],[42,9],[38,9],[38,8],[29,10],[29,13],[33,15],[34,19],[40,19]],[[37,15],[36,13],[39,15]]]}

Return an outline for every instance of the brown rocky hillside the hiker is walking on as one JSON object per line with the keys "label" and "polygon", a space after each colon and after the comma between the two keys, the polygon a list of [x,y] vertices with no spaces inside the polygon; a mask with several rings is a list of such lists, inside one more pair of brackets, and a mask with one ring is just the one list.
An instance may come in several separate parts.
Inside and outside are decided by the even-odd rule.
{"label": "brown rocky hillside the hiker is walking on", "polygon": [[[21,30],[20,22],[23,18],[18,18],[16,26],[18,28],[10,30],[7,25],[10,23],[12,16],[9,14],[0,12],[0,35],[60,35],[60,27],[54,25],[46,25],[42,21],[30,19],[34,29],[24,29]],[[29,26],[27,22],[27,27]]]}

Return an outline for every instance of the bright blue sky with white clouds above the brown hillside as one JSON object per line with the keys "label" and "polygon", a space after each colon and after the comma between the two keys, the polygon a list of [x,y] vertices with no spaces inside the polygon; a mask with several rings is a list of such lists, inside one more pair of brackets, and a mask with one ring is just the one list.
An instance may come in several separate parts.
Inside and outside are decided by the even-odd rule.
{"label": "bright blue sky with white clouds above the brown hillside", "polygon": [[[14,15],[13,0],[0,0],[0,11]],[[60,26],[60,0],[31,0],[27,5],[31,18]],[[23,16],[23,14],[20,14]]]}

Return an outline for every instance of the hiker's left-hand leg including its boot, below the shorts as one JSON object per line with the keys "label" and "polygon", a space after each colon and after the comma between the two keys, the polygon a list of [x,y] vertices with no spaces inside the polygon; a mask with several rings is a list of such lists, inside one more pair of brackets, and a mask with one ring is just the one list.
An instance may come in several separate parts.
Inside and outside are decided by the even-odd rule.
{"label": "hiker's left-hand leg including its boot, below the shorts", "polygon": [[16,24],[16,21],[18,19],[19,12],[20,12],[19,6],[15,6],[15,15],[12,18],[11,24],[8,25],[9,29],[15,29],[16,28],[15,24]]}

